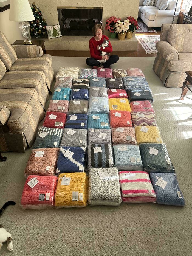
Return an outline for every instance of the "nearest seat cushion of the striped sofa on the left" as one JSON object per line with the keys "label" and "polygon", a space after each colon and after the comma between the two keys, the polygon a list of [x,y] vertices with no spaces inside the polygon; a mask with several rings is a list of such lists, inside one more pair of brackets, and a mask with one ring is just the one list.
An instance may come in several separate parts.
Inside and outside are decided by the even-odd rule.
{"label": "nearest seat cushion of the striped sofa on the left", "polygon": [[10,131],[22,129],[26,125],[37,100],[35,88],[1,89],[0,104],[9,108],[11,114],[7,122]]}

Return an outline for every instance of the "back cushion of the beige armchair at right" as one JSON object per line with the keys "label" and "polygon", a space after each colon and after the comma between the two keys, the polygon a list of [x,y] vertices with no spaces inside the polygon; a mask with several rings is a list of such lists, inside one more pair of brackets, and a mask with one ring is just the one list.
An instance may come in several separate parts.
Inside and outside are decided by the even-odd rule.
{"label": "back cushion of the beige armchair at right", "polygon": [[178,52],[192,52],[192,24],[171,24],[167,36],[167,41],[178,51]]}

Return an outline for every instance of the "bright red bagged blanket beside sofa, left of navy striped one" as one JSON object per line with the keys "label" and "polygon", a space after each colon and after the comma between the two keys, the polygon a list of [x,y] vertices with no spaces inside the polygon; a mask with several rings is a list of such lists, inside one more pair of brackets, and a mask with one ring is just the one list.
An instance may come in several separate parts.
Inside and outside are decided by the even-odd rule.
{"label": "bright red bagged blanket beside sofa, left of navy striped one", "polygon": [[47,111],[44,118],[43,126],[64,129],[66,117],[66,113]]}

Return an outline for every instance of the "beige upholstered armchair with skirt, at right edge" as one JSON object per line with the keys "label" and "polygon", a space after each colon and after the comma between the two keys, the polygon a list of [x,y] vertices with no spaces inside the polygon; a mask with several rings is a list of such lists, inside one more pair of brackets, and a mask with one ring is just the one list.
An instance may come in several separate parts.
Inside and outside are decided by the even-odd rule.
{"label": "beige upholstered armchair with skirt, at right edge", "polygon": [[162,24],[153,70],[167,87],[182,87],[192,71],[192,24]]}

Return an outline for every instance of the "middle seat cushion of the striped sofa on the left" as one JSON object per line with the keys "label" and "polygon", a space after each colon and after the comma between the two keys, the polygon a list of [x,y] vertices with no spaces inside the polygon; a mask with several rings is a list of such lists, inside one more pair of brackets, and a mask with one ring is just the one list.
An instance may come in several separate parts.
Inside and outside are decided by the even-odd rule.
{"label": "middle seat cushion of the striped sofa on the left", "polygon": [[35,88],[40,94],[45,78],[44,72],[38,70],[6,72],[0,81],[0,89]]}

